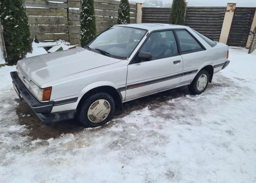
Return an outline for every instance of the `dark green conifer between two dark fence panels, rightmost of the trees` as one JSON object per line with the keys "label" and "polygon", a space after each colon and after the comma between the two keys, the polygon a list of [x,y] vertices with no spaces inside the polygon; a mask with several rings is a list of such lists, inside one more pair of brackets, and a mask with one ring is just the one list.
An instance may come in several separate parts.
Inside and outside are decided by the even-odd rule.
{"label": "dark green conifer between two dark fence panels, rightmost of the trees", "polygon": [[184,25],[186,5],[185,0],[173,0],[171,14],[169,17],[170,24]]}

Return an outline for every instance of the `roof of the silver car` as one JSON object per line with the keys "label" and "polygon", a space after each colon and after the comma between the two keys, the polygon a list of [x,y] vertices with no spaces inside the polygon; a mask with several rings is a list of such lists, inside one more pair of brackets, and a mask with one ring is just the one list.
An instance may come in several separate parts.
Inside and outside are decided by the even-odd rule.
{"label": "roof of the silver car", "polygon": [[160,29],[184,29],[187,26],[180,26],[167,23],[132,23],[132,24],[119,24],[115,26],[132,27],[137,29],[146,29],[148,31],[160,30]]}

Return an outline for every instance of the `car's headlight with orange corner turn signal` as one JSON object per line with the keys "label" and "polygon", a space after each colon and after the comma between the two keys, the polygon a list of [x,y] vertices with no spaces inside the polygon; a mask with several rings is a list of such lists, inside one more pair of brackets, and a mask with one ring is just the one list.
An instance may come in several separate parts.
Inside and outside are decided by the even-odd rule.
{"label": "car's headlight with orange corner turn signal", "polygon": [[29,82],[29,91],[39,100],[39,101],[49,101],[52,93],[52,87],[41,89],[33,81]]}

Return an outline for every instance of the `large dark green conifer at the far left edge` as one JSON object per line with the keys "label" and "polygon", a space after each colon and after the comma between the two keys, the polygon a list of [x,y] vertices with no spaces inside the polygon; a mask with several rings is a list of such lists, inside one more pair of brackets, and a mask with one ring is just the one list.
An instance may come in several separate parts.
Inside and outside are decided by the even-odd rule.
{"label": "large dark green conifer at the far left edge", "polygon": [[13,64],[32,51],[32,39],[29,38],[29,23],[23,0],[0,0],[0,19],[8,62]]}

